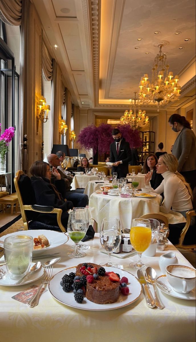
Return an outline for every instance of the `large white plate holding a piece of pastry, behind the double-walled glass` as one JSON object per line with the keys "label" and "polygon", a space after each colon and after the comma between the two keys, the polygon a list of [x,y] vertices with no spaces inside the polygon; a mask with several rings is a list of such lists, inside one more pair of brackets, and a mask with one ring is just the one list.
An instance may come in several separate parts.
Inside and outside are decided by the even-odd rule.
{"label": "large white plate holding a piece of pastry, behind the double-walled glass", "polygon": [[38,235],[45,235],[47,237],[47,239],[49,240],[49,246],[43,249],[33,250],[33,255],[44,254],[44,252],[48,253],[51,249],[66,244],[66,242],[69,239],[67,235],[61,232],[49,231],[46,229],[32,229],[29,231],[14,232],[11,234],[1,236],[1,240],[4,241],[6,237],[14,235],[30,235],[33,238],[38,237]]}

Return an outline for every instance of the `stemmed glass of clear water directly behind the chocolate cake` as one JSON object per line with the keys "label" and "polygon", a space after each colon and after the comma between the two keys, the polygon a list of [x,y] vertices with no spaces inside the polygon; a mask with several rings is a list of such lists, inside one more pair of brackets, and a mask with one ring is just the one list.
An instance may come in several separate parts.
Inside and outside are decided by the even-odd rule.
{"label": "stemmed glass of clear water directly behind the chocolate cake", "polygon": [[102,219],[100,241],[109,256],[108,261],[100,265],[120,268],[120,265],[111,261],[111,254],[119,247],[121,242],[120,220],[113,218]]}

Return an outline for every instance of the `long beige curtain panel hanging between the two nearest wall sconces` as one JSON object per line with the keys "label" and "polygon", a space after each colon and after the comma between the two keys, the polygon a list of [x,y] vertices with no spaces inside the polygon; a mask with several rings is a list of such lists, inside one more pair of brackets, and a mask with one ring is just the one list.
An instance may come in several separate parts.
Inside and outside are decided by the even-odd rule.
{"label": "long beige curtain panel hanging between the two nearest wall sconces", "polygon": [[50,143],[51,150],[53,144],[59,143],[59,119],[61,119],[61,94],[62,94],[61,70],[55,60],[53,60],[52,90],[51,90],[51,124]]}

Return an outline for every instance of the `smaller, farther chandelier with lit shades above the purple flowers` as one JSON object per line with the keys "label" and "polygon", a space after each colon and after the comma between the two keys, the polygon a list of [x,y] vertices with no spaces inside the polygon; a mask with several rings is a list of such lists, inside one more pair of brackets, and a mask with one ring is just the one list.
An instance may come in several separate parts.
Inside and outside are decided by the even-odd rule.
{"label": "smaller, farther chandelier with lit shades above the purple flowers", "polygon": [[[138,127],[145,127],[148,124],[148,116],[146,116],[145,110],[140,109],[140,100],[136,98],[136,91],[134,91],[135,97],[130,101],[129,108],[130,110],[126,110],[124,115],[121,116],[121,123],[129,123],[133,129],[137,129]],[[138,110],[138,114],[136,113]]]}

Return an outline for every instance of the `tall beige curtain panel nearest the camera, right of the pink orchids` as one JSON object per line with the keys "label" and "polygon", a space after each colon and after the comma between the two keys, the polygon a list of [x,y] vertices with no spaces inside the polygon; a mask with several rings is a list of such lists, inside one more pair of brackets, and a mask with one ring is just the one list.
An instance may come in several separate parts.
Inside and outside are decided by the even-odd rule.
{"label": "tall beige curtain panel nearest the camera, right of the pink orchids", "polygon": [[[20,87],[19,87],[19,125],[18,125],[18,169],[25,169],[27,165],[27,153],[23,154],[24,118],[27,113],[32,113],[32,94],[34,90],[32,65],[33,35],[32,21],[33,8],[30,0],[23,1],[21,20],[21,44],[20,44]],[[27,139],[29,137],[27,136]],[[27,152],[27,151],[26,151]]]}

